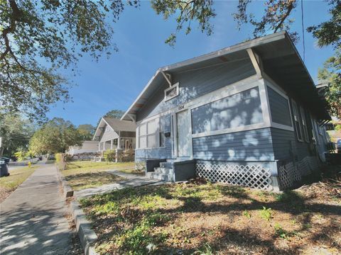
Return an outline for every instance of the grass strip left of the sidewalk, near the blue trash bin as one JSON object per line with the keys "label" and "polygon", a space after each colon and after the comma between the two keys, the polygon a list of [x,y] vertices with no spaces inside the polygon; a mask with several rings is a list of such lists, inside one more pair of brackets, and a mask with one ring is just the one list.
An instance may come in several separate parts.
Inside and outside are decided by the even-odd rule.
{"label": "grass strip left of the sidewalk, near the blue trash bin", "polygon": [[38,166],[23,166],[9,171],[10,176],[0,178],[0,203],[5,200]]}

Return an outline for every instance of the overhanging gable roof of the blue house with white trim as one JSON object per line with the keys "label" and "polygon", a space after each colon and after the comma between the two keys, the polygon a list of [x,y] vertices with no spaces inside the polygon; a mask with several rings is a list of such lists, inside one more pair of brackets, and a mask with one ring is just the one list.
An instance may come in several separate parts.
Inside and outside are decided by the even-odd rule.
{"label": "overhanging gable roof of the blue house with white trim", "polygon": [[245,57],[249,48],[252,48],[261,57],[264,72],[274,79],[278,85],[283,86],[283,89],[288,91],[289,96],[294,95],[298,98],[318,118],[330,119],[325,100],[318,95],[314,81],[310,77],[295,45],[293,45],[288,33],[281,31],[159,68],[124,113],[121,120],[131,120],[129,114],[136,114],[153,95],[153,92],[165,82],[162,72],[174,74],[184,70],[240,59]]}

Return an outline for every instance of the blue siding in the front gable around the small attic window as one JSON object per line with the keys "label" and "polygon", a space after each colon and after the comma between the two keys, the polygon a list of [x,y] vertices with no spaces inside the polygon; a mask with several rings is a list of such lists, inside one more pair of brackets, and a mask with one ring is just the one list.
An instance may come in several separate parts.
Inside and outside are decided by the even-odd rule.
{"label": "blue siding in the front gable around the small attic window", "polygon": [[168,88],[165,81],[150,97],[151,100],[137,113],[137,120],[143,120],[148,116],[168,111],[193,98],[233,84],[254,74],[256,72],[250,60],[227,62],[227,64],[220,66],[174,74],[173,83],[179,82],[179,95],[169,101],[163,101],[164,90]]}

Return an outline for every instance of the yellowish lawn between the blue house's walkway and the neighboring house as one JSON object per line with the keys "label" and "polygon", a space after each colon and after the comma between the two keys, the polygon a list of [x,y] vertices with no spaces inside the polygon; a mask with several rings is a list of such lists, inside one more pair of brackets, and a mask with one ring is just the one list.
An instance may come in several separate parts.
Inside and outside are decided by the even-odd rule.
{"label": "yellowish lawn between the blue house's walkway and the neighboring house", "polygon": [[106,163],[106,162],[68,162],[62,171],[65,179],[75,190],[94,188],[108,183],[123,181],[124,179],[106,172],[108,169],[126,169],[134,167],[134,162]]}

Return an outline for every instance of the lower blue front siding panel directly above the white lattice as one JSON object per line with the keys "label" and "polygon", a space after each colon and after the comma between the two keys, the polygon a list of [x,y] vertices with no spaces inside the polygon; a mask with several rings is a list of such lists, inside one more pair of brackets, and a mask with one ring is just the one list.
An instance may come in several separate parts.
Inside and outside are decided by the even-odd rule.
{"label": "lower blue front siding panel directly above the white lattice", "polygon": [[193,139],[193,158],[215,161],[274,160],[269,128]]}

